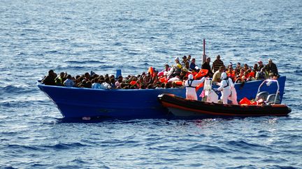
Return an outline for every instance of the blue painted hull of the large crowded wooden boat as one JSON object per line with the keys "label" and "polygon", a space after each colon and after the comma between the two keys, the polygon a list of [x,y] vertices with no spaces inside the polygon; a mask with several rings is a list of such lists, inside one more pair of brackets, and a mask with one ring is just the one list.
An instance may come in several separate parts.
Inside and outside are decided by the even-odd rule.
{"label": "blue painted hull of the large crowded wooden boat", "polygon": [[[278,79],[282,101],[286,77]],[[251,81],[243,86],[236,83],[238,100],[256,96],[262,81]],[[214,86],[217,88],[218,86]],[[163,92],[185,97],[185,88],[146,90],[100,90],[90,88],[66,88],[38,84],[43,92],[57,105],[64,118],[99,117],[111,119],[170,118],[166,108],[157,101]],[[263,91],[275,93],[277,86],[264,86]],[[199,90],[200,95],[202,88]]]}

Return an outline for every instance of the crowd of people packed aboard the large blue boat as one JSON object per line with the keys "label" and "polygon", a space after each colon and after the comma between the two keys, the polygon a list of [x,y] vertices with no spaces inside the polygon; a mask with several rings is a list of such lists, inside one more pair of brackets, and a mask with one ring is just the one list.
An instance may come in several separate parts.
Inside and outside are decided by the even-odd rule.
{"label": "crowd of people packed aboard the large blue boat", "polygon": [[195,58],[191,56],[183,56],[180,61],[179,57],[175,58],[175,64],[169,66],[164,65],[163,70],[159,71],[150,67],[148,72],[143,72],[138,75],[128,75],[127,77],[115,77],[114,75],[99,75],[94,72],[72,77],[71,74],[61,72],[57,75],[54,70],[49,70],[41,82],[45,85],[66,86],[77,88],[96,88],[96,89],[154,89],[154,88],[182,88],[185,86],[189,74],[194,75],[194,79],[201,69],[208,70],[206,77],[213,79],[213,82],[220,83],[222,73],[225,72],[227,77],[234,83],[252,81],[256,79],[276,79],[279,77],[278,69],[271,59],[268,59],[268,64],[264,65],[262,61],[258,61],[253,67],[240,63],[236,66],[229,63],[227,66],[221,60],[220,55],[217,55],[212,66],[210,58],[198,67],[195,63]]}

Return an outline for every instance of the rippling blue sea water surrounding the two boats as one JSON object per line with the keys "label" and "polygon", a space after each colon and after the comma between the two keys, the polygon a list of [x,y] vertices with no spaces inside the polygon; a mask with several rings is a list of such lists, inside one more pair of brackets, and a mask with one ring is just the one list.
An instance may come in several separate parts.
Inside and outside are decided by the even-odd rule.
{"label": "rippling blue sea water surrounding the two boats", "polygon": [[[302,1],[1,0],[0,168],[302,168]],[[287,76],[288,117],[64,122],[48,70],[141,74],[192,55]],[[85,96],[84,96],[85,97]]]}

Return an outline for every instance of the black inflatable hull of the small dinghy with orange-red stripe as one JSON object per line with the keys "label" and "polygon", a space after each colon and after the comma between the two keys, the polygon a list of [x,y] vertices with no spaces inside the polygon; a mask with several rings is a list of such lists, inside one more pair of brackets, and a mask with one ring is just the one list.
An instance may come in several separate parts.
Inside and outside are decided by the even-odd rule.
{"label": "black inflatable hull of the small dinghy with orange-red stripe", "polygon": [[285,104],[259,106],[215,104],[189,100],[173,94],[161,94],[158,100],[173,115],[180,118],[284,116],[292,111]]}

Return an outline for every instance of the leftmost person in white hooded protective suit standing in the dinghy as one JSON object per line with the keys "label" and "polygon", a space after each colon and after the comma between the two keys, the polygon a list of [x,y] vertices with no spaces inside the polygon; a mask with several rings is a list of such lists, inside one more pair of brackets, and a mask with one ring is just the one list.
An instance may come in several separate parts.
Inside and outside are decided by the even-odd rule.
{"label": "leftmost person in white hooded protective suit standing in the dinghy", "polygon": [[205,77],[201,80],[194,80],[193,74],[189,74],[187,81],[185,81],[186,99],[197,100],[196,86],[203,83],[203,81],[205,81]]}

